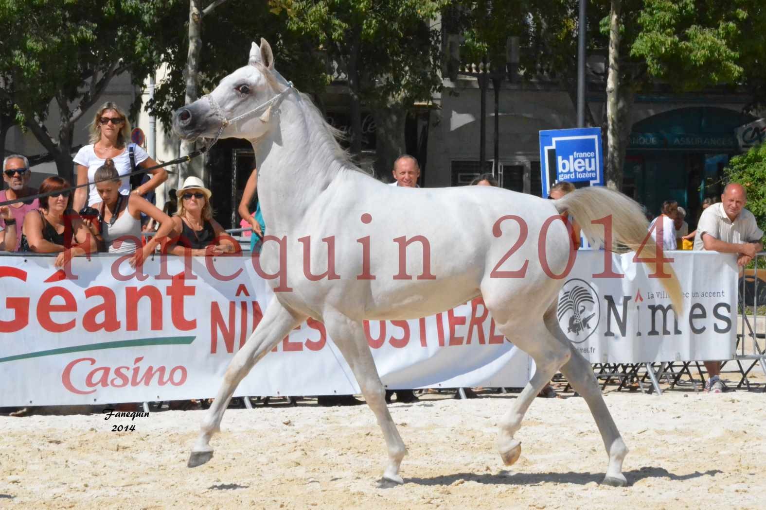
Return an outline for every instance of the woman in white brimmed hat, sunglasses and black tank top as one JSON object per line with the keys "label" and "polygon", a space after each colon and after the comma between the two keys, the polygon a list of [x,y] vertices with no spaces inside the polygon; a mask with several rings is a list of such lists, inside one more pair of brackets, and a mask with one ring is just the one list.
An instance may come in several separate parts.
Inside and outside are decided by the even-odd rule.
{"label": "woman in white brimmed hat, sunglasses and black tank top", "polygon": [[173,216],[173,239],[168,253],[192,256],[222,255],[239,251],[238,243],[213,219],[211,191],[199,177],[186,177],[178,190],[178,210]]}

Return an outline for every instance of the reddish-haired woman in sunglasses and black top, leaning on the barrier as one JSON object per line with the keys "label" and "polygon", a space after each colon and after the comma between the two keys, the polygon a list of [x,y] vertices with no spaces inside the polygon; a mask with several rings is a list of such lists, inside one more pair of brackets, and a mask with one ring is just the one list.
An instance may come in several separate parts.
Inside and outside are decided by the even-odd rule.
{"label": "reddish-haired woman in sunglasses and black top, leaning on the barrier", "polygon": [[72,257],[97,251],[96,239],[83,219],[71,210],[71,185],[58,176],[40,184],[39,193],[51,193],[40,200],[37,214],[29,213],[21,229],[21,251],[60,253],[54,262],[63,267]]}

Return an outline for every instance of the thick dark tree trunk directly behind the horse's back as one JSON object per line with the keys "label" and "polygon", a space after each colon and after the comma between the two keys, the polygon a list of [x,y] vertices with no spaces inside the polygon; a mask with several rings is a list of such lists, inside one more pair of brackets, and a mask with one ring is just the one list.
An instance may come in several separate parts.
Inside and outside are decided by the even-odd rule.
{"label": "thick dark tree trunk directly behind the horse's back", "polygon": [[407,152],[404,141],[407,109],[392,99],[387,106],[373,109],[372,117],[375,119],[375,174],[388,179],[396,158]]}

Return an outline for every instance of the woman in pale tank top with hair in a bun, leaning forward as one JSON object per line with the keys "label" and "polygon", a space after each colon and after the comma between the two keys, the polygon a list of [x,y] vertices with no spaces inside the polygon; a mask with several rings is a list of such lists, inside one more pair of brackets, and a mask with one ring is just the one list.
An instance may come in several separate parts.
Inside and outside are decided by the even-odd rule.
{"label": "woman in pale tank top with hair in a bun, leaning forward", "polygon": [[[154,251],[162,239],[169,236],[173,230],[173,220],[143,197],[136,194],[120,194],[121,181],[114,161],[110,158],[106,159],[94,176],[97,181],[96,190],[101,198],[100,203],[94,204],[94,208],[99,212],[99,220],[86,219],[85,223],[97,241],[103,245],[104,251],[135,253],[129,264],[136,267]],[[157,234],[143,246],[141,213],[159,223]]]}

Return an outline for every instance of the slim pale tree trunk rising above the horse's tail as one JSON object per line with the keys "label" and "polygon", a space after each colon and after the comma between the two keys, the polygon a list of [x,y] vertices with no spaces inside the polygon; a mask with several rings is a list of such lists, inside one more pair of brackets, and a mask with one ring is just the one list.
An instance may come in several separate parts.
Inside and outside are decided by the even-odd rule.
{"label": "slim pale tree trunk rising above the horse's tail", "polygon": [[607,187],[622,188],[625,145],[620,137],[620,8],[622,0],[611,0],[609,15],[609,72],[607,74]]}

